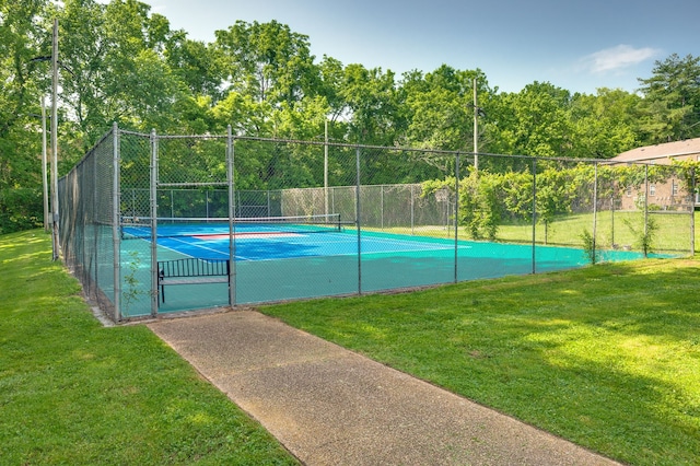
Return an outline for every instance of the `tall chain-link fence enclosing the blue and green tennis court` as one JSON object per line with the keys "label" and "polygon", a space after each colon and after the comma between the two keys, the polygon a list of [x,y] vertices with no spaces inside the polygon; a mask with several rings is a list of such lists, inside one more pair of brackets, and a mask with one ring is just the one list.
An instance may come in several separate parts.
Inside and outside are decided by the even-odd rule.
{"label": "tall chain-link fence enclosing the blue and green tennis court", "polygon": [[[124,321],[695,249],[679,166],[478,159],[477,173],[470,153],[115,126],[59,182],[61,251]],[[164,264],[189,258],[228,261],[226,277],[166,288]]]}

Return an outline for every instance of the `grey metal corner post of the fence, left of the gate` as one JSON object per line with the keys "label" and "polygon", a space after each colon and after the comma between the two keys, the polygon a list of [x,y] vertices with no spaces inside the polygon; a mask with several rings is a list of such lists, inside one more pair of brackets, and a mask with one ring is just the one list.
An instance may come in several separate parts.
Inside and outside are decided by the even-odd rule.
{"label": "grey metal corner post of the fence, left of the gate", "polygon": [[112,248],[114,268],[114,319],[121,321],[121,219],[120,219],[120,145],[119,127],[117,123],[112,124]]}

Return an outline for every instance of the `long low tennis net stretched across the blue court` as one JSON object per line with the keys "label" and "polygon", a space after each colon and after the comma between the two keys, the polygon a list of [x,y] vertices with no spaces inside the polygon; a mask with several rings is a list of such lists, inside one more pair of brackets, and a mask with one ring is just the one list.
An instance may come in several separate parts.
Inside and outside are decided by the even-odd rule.
{"label": "long low tennis net stretched across the blue court", "polygon": [[[228,218],[156,218],[158,237],[220,236],[229,234]],[[280,233],[328,233],[342,230],[339,213],[296,217],[253,217],[233,219],[235,235],[273,235]],[[153,222],[150,217],[122,217],[124,240],[150,238]]]}

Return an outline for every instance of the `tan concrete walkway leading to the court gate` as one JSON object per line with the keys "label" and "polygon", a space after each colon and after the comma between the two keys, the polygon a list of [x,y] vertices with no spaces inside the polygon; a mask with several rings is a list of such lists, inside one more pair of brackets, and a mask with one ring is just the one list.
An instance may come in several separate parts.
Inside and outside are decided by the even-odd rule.
{"label": "tan concrete walkway leading to the court gate", "polygon": [[252,311],[149,325],[306,465],[612,465]]}

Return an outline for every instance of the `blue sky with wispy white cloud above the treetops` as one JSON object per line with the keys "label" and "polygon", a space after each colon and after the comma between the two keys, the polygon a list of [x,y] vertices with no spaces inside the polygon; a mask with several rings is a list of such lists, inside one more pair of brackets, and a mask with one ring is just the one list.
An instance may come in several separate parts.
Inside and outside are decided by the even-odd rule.
{"label": "blue sky with wispy white cloud above the treetops", "polygon": [[173,28],[212,42],[237,20],[277,20],[317,60],[430,72],[481,69],[491,88],[639,88],[655,60],[700,56],[699,0],[144,0]]}

